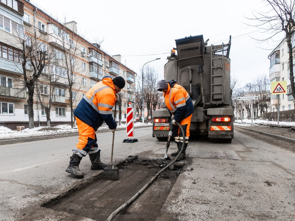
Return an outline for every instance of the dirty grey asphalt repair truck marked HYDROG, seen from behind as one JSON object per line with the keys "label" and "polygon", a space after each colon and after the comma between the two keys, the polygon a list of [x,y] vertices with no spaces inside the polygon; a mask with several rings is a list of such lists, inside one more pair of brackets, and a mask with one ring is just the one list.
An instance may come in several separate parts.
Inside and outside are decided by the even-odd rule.
{"label": "dirty grey asphalt repair truck marked HYDROG, seen from behind", "polygon": [[[230,45],[207,45],[203,35],[176,39],[164,65],[164,80],[176,80],[189,93],[194,112],[190,137],[207,136],[211,142],[234,138],[230,90]],[[176,54],[177,51],[177,54]],[[171,117],[168,109],[153,112],[153,137],[167,140]]]}

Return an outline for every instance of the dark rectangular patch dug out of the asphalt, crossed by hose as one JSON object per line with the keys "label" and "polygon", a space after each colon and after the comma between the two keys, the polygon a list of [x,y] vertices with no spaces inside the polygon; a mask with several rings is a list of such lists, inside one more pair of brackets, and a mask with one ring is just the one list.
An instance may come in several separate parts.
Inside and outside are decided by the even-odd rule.
{"label": "dark rectangular patch dug out of the asphalt, crossed by hose", "polygon": [[[117,181],[102,180],[98,176],[98,179],[91,184],[43,206],[93,220],[106,220],[114,210],[132,198],[170,162],[164,159],[140,159],[137,156],[130,156],[117,165],[119,167]],[[163,171],[113,220],[156,220],[184,164],[176,162]]]}

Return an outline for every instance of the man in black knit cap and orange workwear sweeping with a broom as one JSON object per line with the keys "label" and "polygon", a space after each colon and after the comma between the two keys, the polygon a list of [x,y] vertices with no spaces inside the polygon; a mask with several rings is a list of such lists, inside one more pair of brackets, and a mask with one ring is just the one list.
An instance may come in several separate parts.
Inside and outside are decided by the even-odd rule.
{"label": "man in black knit cap and orange workwear sweeping with a broom", "polygon": [[89,154],[91,170],[104,169],[106,164],[100,161],[100,149],[98,149],[96,131],[105,122],[109,129],[114,131],[117,123],[112,116],[112,108],[118,99],[118,92],[125,86],[125,80],[121,76],[114,79],[105,76],[96,83],[82,98],[74,111],[79,132],[79,141],[73,149],[70,164],[65,170],[75,177],[83,177],[79,164],[83,156]]}

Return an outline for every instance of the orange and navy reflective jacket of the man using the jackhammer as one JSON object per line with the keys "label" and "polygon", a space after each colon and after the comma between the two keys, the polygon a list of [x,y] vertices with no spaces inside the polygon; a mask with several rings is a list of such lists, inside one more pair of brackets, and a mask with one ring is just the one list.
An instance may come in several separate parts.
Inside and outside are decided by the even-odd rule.
{"label": "orange and navy reflective jacket of the man using the jackhammer", "polygon": [[167,93],[163,95],[168,110],[174,114],[174,120],[180,122],[194,112],[189,93],[176,81],[168,81]]}

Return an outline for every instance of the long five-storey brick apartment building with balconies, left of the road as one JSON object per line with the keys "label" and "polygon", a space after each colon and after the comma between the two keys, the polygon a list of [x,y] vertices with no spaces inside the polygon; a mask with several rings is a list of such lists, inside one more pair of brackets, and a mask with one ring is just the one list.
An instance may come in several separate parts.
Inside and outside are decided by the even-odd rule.
{"label": "long five-storey brick apartment building with balconies, left of the road", "polygon": [[[126,81],[122,107],[117,107],[124,122],[128,105],[135,108],[135,75],[121,63],[120,55],[111,56],[98,43],[81,37],[76,22],[63,24],[30,1],[0,1],[0,126],[28,128],[30,77],[38,77],[33,95],[35,126],[46,126],[48,121],[50,126],[71,125],[71,105],[74,109],[104,76],[122,76]],[[116,114],[118,120],[119,111]]]}

